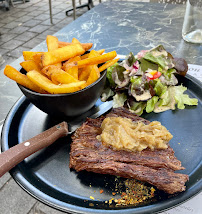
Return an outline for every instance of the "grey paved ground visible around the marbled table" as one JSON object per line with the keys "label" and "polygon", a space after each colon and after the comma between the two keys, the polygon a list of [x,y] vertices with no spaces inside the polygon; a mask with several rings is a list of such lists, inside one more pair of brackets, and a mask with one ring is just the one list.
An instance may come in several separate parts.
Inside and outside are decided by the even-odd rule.
{"label": "grey paved ground visible around the marbled table", "polygon": [[[138,1],[138,0],[133,0]],[[148,2],[149,0],[140,0]],[[151,0],[157,1],[157,0]],[[160,0],[165,2],[165,0]],[[168,0],[171,1],[171,0]],[[183,1],[183,0],[179,0]],[[82,3],[87,0],[82,0]],[[94,5],[99,0],[94,1]],[[30,0],[23,4],[17,0],[15,7],[6,11],[0,0],[0,70],[22,55],[23,50],[30,50],[41,43],[47,34],[54,34],[73,21],[72,15],[65,11],[71,7],[71,0],[52,0],[53,22],[50,23],[48,0]],[[87,8],[79,9],[80,16]],[[9,200],[9,201],[8,201]],[[28,195],[22,190],[10,174],[0,179],[0,213],[1,214],[59,214],[56,211]]]}

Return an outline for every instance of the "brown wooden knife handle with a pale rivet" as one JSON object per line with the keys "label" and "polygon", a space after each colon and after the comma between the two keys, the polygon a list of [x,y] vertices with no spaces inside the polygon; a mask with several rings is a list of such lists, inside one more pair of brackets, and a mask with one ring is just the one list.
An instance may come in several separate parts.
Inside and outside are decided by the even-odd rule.
{"label": "brown wooden knife handle with a pale rivet", "polygon": [[41,134],[11,147],[0,154],[0,177],[23,161],[26,157],[54,143],[58,138],[67,136],[68,125],[62,122]]}

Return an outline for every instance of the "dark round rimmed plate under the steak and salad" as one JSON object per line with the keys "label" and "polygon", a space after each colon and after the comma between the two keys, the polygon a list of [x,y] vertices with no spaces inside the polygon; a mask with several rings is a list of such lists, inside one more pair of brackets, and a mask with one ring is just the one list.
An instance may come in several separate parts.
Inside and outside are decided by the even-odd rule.
{"label": "dark round rimmed plate under the steak and salad", "polygon": [[[197,107],[184,110],[145,114],[158,120],[173,134],[170,142],[176,157],[189,175],[186,191],[175,196],[159,197],[157,201],[130,207],[115,207],[105,201],[112,198],[114,177],[70,170],[70,136],[60,139],[26,158],[10,171],[15,181],[41,202],[61,211],[76,213],[154,213],[169,209],[196,195],[202,189],[201,127],[202,85],[190,76],[181,78],[188,94],[199,100]],[[96,105],[100,105],[98,100]],[[23,142],[61,121],[49,117],[22,97],[13,106],[3,126],[2,151]],[[100,194],[100,189],[104,190]],[[90,199],[90,196],[94,197]]]}

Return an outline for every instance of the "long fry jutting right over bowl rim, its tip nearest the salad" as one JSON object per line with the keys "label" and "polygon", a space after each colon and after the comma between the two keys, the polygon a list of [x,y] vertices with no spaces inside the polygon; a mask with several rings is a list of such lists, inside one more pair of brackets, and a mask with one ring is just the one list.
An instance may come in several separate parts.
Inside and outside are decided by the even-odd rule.
{"label": "long fry jutting right over bowl rim, its tip nearest the salad", "polygon": [[101,56],[80,60],[78,62],[75,62],[74,64],[75,66],[78,66],[78,68],[82,68],[82,67],[85,67],[86,65],[97,65],[97,64],[104,63],[108,60],[114,59],[116,56],[117,56],[116,51],[111,51]]}

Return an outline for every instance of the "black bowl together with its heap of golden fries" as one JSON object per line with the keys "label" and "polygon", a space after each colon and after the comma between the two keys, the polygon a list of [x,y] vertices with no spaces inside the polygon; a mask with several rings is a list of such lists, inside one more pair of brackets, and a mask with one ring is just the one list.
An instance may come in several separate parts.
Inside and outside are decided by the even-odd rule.
{"label": "black bowl together with its heap of golden fries", "polygon": [[116,63],[116,51],[90,50],[92,43],[61,42],[47,36],[47,52],[23,51],[20,71],[7,65],[4,74],[43,112],[56,117],[78,116],[94,106]]}

